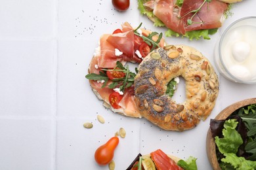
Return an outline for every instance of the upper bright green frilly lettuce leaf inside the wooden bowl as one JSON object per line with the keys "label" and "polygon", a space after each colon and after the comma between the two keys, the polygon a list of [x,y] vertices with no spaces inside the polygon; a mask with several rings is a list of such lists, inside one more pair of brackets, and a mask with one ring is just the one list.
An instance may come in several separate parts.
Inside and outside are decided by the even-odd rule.
{"label": "upper bright green frilly lettuce leaf inside the wooden bowl", "polygon": [[223,138],[219,138],[219,136],[215,137],[215,143],[222,154],[236,154],[236,152],[238,152],[239,146],[243,144],[241,135],[238,133],[238,131],[236,131],[237,125],[238,122],[236,119],[226,120],[224,122]]}

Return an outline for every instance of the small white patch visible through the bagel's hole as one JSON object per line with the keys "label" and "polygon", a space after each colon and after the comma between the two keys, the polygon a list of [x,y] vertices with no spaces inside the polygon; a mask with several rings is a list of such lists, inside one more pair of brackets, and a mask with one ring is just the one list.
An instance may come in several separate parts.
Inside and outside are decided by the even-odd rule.
{"label": "small white patch visible through the bagel's hole", "polygon": [[186,87],[185,87],[185,80],[182,76],[179,76],[179,84],[177,84],[176,91],[173,94],[173,99],[176,103],[183,103],[186,99]]}

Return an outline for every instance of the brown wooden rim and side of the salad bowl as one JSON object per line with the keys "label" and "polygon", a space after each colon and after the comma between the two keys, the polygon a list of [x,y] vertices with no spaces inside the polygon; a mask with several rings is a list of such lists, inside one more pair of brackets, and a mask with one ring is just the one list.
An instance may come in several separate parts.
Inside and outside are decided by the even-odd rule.
{"label": "brown wooden rim and side of the salad bowl", "polygon": [[[251,104],[255,104],[256,103],[256,98],[252,98],[252,99],[245,99],[243,101],[238,101],[237,103],[234,103],[228,107],[226,107],[226,109],[222,110],[216,117],[216,120],[226,120],[226,118],[232,114],[232,112],[234,112],[237,109],[240,109],[241,107],[244,107],[246,105],[251,105]],[[207,157],[211,163],[211,167],[213,167],[213,169],[215,170],[219,170],[221,169],[221,167],[219,167],[219,163],[217,161],[217,156],[216,156],[216,148],[215,148],[215,142],[213,137],[211,137],[211,129],[208,129],[207,132],[207,137],[206,137],[206,152],[207,152]]]}

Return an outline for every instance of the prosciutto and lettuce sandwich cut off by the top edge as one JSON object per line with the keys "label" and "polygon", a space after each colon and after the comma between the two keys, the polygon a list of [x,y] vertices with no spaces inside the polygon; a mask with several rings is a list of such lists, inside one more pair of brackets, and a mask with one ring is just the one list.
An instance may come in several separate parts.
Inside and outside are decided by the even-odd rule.
{"label": "prosciutto and lettuce sandwich cut off by the top edge", "polygon": [[140,14],[155,26],[167,27],[166,37],[210,39],[231,14],[231,3],[242,0],[138,0]]}

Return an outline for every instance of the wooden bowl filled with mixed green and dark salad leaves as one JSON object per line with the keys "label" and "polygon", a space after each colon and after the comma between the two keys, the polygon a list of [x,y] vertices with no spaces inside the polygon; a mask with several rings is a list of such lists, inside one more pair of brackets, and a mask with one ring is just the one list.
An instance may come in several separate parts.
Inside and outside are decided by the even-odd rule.
{"label": "wooden bowl filled with mixed green and dark salad leaves", "polygon": [[221,111],[211,120],[206,141],[213,169],[256,169],[256,98]]}

